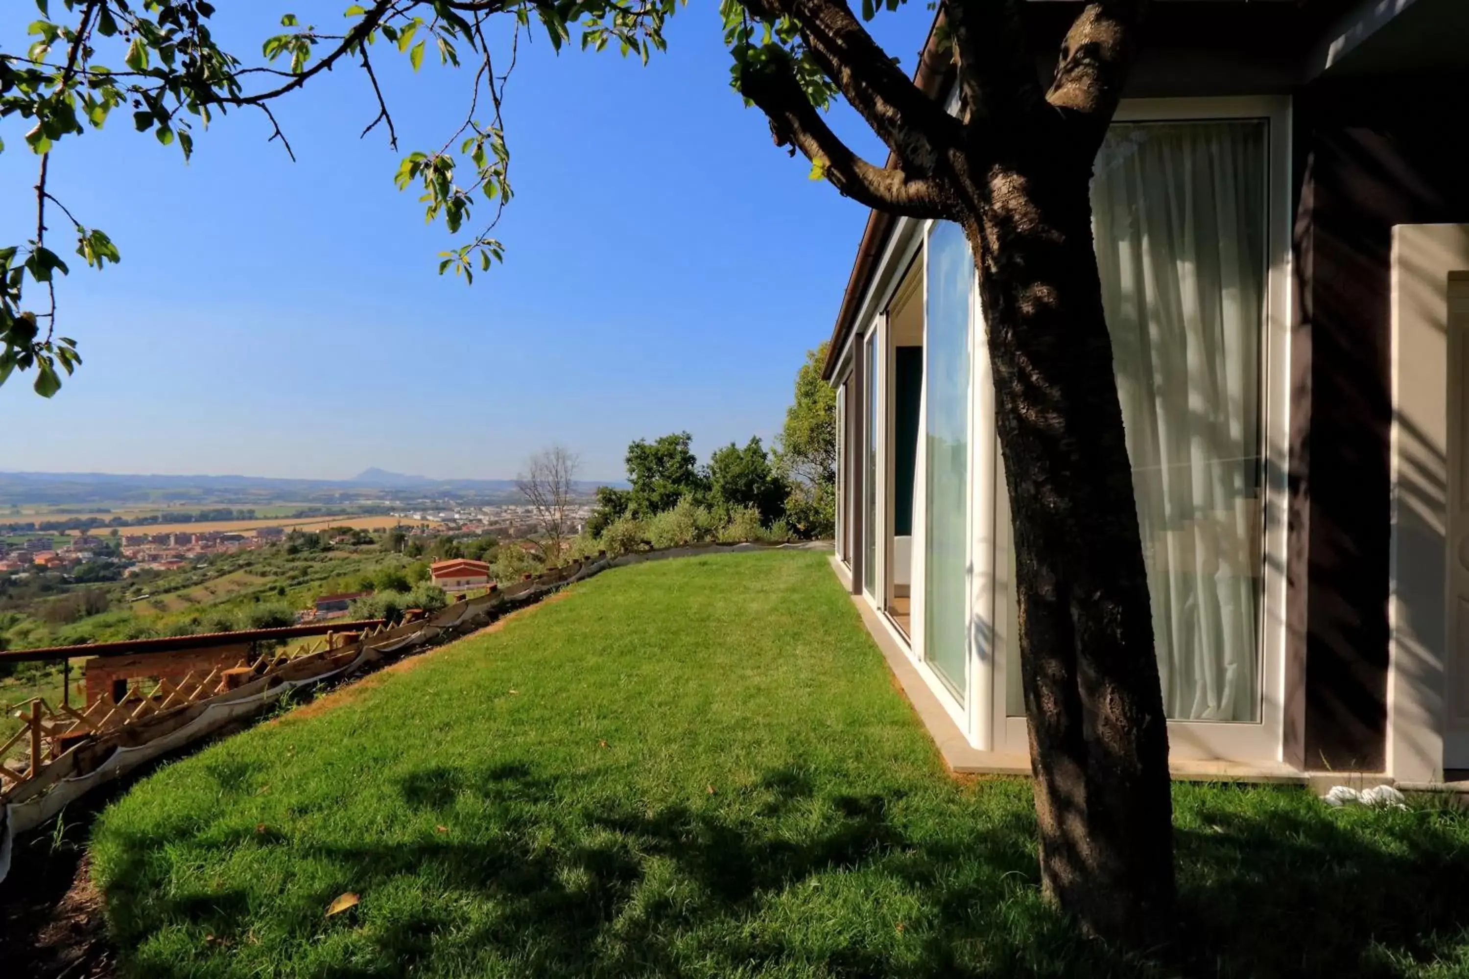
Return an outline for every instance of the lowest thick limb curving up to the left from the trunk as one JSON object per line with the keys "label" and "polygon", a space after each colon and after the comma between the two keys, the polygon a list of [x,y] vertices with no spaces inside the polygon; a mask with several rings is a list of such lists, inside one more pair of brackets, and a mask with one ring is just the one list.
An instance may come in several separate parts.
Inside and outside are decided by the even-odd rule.
{"label": "lowest thick limb curving up to the left from the trunk", "polygon": [[950,217],[937,178],[877,167],[852,153],[801,90],[789,53],[776,44],[764,50],[765,62],[742,76],[742,94],[770,119],[776,145],[795,145],[842,194],[873,210],[902,217]]}

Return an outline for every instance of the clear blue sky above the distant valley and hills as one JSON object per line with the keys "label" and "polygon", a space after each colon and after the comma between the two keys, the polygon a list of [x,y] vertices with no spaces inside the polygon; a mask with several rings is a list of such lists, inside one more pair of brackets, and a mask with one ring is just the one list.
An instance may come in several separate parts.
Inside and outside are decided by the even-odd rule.
{"label": "clear blue sky above the distant valley and hills", "polygon": [[[0,50],[21,50],[32,7],[4,6]],[[257,51],[281,13],[325,26],[344,6],[223,0],[216,35]],[[873,29],[911,69],[930,16],[911,3]],[[467,72],[376,60],[401,150],[441,145]],[[316,81],[276,110],[294,164],[259,113],[197,134],[188,166],[125,113],[59,144],[53,191],[123,261],[78,258],[62,282],[85,364],[50,401],[25,379],[0,387],[0,470],[489,478],[561,442],[608,478],[635,437],[686,429],[705,456],[779,430],[865,211],[806,179],[730,91],[715,4],[680,10],[648,68],[521,44],[508,252],[472,288],[436,274],[448,235],[394,188],[385,137],[358,139],[361,73]],[[851,110],[831,120],[881,161]],[[4,244],[34,225],[25,128],[0,122]]]}

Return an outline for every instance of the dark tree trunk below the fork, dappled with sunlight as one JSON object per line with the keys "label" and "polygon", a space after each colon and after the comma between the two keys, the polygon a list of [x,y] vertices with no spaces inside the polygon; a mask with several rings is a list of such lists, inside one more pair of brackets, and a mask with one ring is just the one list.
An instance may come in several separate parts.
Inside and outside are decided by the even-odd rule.
{"label": "dark tree trunk below the fork, dappled with sunlight", "polygon": [[1042,884],[1089,932],[1147,947],[1174,916],[1168,727],[1090,176],[1090,156],[1059,153],[990,167],[962,223],[1015,525]]}

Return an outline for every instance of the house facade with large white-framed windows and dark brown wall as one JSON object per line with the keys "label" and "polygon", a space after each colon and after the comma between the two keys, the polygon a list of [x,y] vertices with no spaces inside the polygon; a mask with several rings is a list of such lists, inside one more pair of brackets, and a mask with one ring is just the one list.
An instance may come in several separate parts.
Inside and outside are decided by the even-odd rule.
{"label": "house facade with large white-framed windows and dark brown wall", "polygon": [[[1030,4],[1039,62],[1080,6]],[[1469,3],[1165,0],[1147,32],[1091,203],[1171,760],[1441,781],[1469,769],[1469,135],[1432,92],[1469,81]],[[1028,768],[958,226],[870,219],[826,373],[839,574],[936,735]]]}

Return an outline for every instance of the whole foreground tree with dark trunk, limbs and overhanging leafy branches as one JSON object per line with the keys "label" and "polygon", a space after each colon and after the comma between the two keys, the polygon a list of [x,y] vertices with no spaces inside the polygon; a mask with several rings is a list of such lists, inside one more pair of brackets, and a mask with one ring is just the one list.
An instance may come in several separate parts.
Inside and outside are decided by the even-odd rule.
{"label": "whole foreground tree with dark trunk, limbs and overhanging leafy branches", "polygon": [[[29,50],[0,56],[0,114],[35,119],[37,230],[0,248],[0,382],[34,370],[50,396],[59,368],[78,363],[57,333],[54,279],[65,261],[47,245],[48,207],[75,232],[78,254],[116,261],[112,239],[53,195],[47,161],[62,138],[134,109],[140,131],[192,151],[192,122],[270,104],[335,66],[358,65],[376,104],[369,129],[395,144],[372,56],[386,41],[417,66],[429,41],[439,59],[474,66],[464,126],[439,150],[407,156],[401,186],[419,185],[430,217],[452,232],[476,195],[495,213],[485,230],[442,254],[441,272],[472,277],[501,254],[491,236],[510,200],[501,126],[505,72],[488,26],[514,37],[539,25],[560,47],[613,44],[646,59],[664,46],[677,0],[370,0],[347,9],[347,29],[282,18],[266,65],[217,47],[206,0],[59,0],[65,22],[31,26]],[[887,0],[896,6],[902,0]],[[1094,932],[1149,941],[1174,901],[1168,734],[1112,346],[1091,245],[1091,163],[1111,123],[1147,0],[1090,0],[1071,25],[1049,84],[1031,60],[1025,0],[940,0],[958,109],[915,85],[845,0],[721,0],[733,84],[770,119],[780,145],[812,176],[886,213],[955,222],[968,239],[984,302],[1000,451],[1012,501],[1021,672],[1036,772],[1044,892]],[[104,60],[97,48],[113,48]],[[504,50],[504,48],[501,48]],[[119,65],[116,70],[100,65]],[[480,98],[483,95],[483,98]],[[886,144],[861,159],[821,114],[842,97]],[[458,141],[457,154],[452,147]],[[457,175],[469,170],[463,182]],[[40,295],[40,302],[32,295]],[[651,446],[649,446],[651,448]],[[685,443],[685,452],[686,452]],[[630,461],[632,461],[632,454]],[[692,461],[689,462],[692,467]]]}

